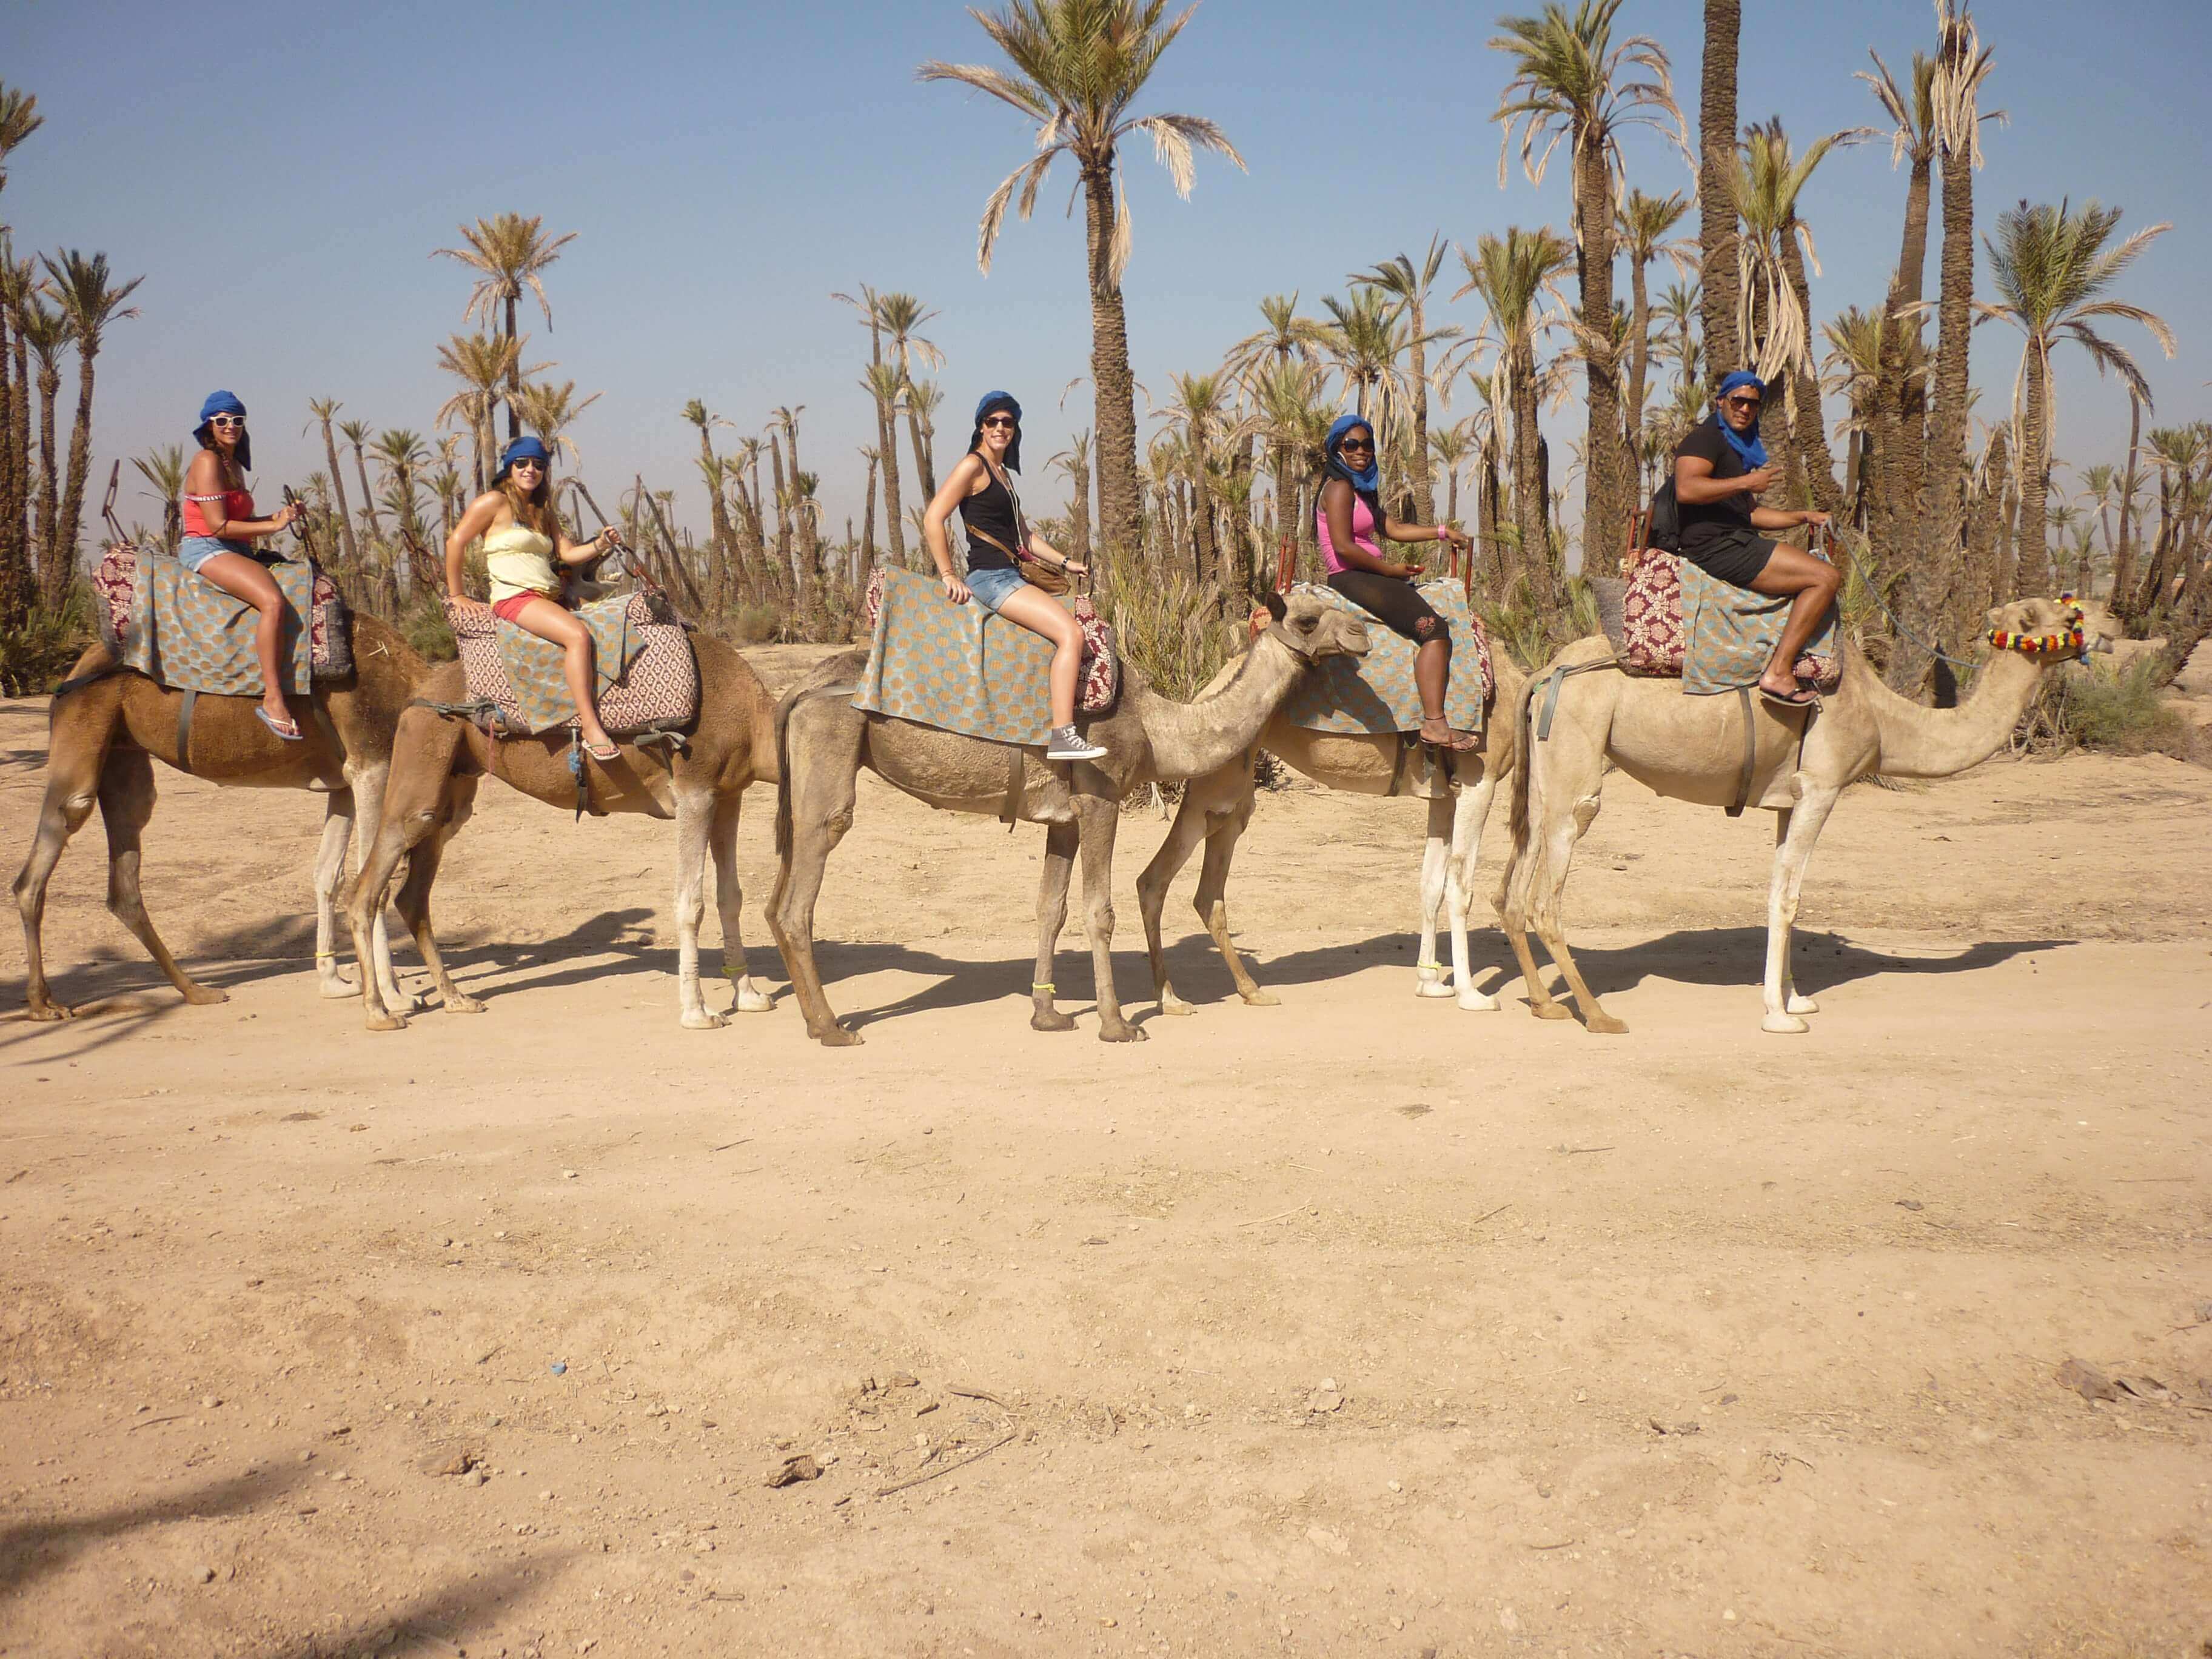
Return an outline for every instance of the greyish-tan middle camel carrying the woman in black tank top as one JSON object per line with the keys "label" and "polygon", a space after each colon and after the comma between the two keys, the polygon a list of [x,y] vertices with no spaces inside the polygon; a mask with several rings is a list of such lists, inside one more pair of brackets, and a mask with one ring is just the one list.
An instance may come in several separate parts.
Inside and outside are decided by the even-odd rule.
{"label": "greyish-tan middle camel carrying the woman in black tank top", "polygon": [[1287,602],[1270,595],[1267,611],[1267,628],[1252,639],[1234,672],[1194,703],[1168,701],[1133,664],[1124,664],[1119,703],[1086,728],[1086,737],[1106,750],[1102,761],[1055,765],[1044,761],[1042,745],[1013,748],[856,710],[852,688],[867,661],[865,650],[832,657],[785,692],[776,706],[783,768],[776,852],[783,865],[768,927],[783,949],[807,1035],[832,1048],[860,1042],[860,1033],[836,1022],[823,995],[814,967],[814,900],[830,852],[852,827],[854,785],[865,765],[916,801],[947,812],[1004,814],[1046,825],[1029,1015],[1033,1031],[1075,1029],[1075,1020],[1055,1006],[1053,953],[1079,849],[1099,1040],[1144,1042],[1146,1033],[1121,1015],[1113,982],[1113,841],[1121,801],[1146,783],[1177,783],[1232,765],[1314,661],[1367,650],[1367,628],[1347,611],[1303,595]]}

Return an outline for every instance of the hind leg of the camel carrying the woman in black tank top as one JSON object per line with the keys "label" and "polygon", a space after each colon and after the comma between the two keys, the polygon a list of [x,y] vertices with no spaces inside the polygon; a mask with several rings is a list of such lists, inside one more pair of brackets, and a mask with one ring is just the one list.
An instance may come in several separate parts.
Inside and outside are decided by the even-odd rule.
{"label": "hind leg of the camel carrying the woman in black tank top", "polygon": [[830,854],[852,830],[867,723],[849,703],[830,699],[801,699],[783,719],[783,794],[776,801],[783,865],[768,900],[768,931],[783,951],[783,971],[792,978],[807,1035],[830,1048],[849,1048],[860,1033],[836,1022],[814,967],[814,900],[821,898]]}

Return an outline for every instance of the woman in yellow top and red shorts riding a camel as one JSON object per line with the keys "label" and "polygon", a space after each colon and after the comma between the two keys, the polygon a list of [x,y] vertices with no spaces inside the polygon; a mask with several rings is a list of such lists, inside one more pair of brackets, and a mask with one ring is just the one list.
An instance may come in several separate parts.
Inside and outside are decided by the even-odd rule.
{"label": "woman in yellow top and red shorts riding a camel", "polygon": [[460,524],[445,538],[445,591],[462,611],[484,611],[460,586],[460,566],[469,542],[484,538],[484,568],[491,575],[491,615],[551,639],[566,653],[562,670],[575,699],[584,750],[595,761],[622,754],[615,739],[599,726],[599,703],[593,699],[591,628],[562,604],[562,582],[553,571],[562,564],[591,564],[606,553],[606,531],[588,542],[571,542],[553,511],[553,478],[546,447],[535,438],[515,438],[500,456],[491,489],[469,502]]}

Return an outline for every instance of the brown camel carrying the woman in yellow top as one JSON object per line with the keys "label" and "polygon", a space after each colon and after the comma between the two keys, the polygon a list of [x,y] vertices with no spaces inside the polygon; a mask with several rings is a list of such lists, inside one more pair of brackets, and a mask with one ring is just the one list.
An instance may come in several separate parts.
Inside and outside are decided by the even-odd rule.
{"label": "brown camel carrying the woman in yellow top", "polygon": [[[721,911],[721,971],[737,989],[734,1013],[765,1013],[774,1002],[745,975],[745,938],[739,920],[743,894],[737,883],[737,810],[745,785],[776,776],[774,703],[768,688],[730,646],[695,633],[699,659],[699,717],[686,732],[681,752],[664,745],[637,748],[624,741],[615,761],[586,759],[591,803],[602,812],[641,812],[675,818],[677,825],[677,1002],[688,1031],[712,1031],[726,1015],[708,1013],[699,993],[699,916],[703,911],[706,860],[714,858],[714,905]],[[467,699],[460,664],[440,664],[422,688],[425,701]],[[482,1002],[465,995],[445,971],[431,936],[429,889],[453,832],[476,803],[476,781],[491,774],[533,801],[575,810],[575,776],[568,772],[568,734],[484,737],[467,719],[434,708],[409,708],[392,743],[392,776],[376,838],[347,898],[347,916],[358,940],[383,911],[385,889],[398,860],[407,858],[407,880],[394,905],[414,933],[438,995],[453,1013],[480,1013]],[[542,880],[540,872],[515,872],[513,880]],[[369,1031],[398,1031],[405,1020],[363,982],[361,1002]]]}

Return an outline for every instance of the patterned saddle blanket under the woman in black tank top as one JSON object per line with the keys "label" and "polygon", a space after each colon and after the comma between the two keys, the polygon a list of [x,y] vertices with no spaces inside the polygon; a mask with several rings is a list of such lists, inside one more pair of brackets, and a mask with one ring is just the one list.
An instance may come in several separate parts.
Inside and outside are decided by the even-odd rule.
{"label": "patterned saddle blanket under the woman in black tank top", "polygon": [[[1113,630],[1086,597],[1062,597],[1060,604],[1084,630],[1075,708],[1104,714],[1121,695]],[[980,604],[951,604],[933,577],[887,564],[869,577],[860,617],[867,626],[867,668],[860,670],[854,708],[991,743],[1051,741],[1046,670],[1053,641],[1044,635]]]}

